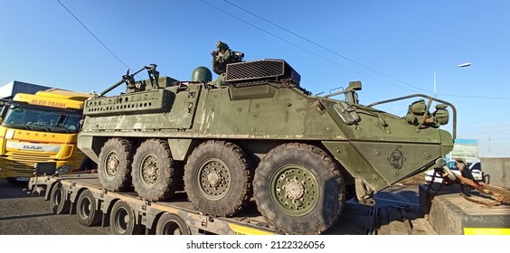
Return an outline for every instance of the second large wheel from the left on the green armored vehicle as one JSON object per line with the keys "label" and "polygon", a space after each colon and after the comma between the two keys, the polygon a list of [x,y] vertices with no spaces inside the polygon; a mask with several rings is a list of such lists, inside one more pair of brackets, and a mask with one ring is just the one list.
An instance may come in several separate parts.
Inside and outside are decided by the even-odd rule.
{"label": "second large wheel from the left on the green armored vehicle", "polygon": [[174,166],[170,147],[163,140],[143,142],[133,157],[135,192],[146,201],[165,201],[175,193]]}

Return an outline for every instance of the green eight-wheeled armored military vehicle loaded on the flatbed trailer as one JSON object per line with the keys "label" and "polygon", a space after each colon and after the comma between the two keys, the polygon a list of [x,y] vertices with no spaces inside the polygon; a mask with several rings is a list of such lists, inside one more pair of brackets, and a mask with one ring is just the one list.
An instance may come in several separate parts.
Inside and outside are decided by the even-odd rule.
{"label": "green eight-wheeled armored military vehicle loaded on the flatbed trailer", "polygon": [[[456,130],[448,102],[418,94],[364,106],[359,81],[312,96],[286,61],[243,61],[223,42],[212,54],[218,80],[205,67],[178,81],[151,65],[148,80],[127,73],[86,101],[79,148],[105,189],[146,201],[184,190],[198,211],[220,217],[254,199],[281,232],[319,234],[349,198],[373,205],[374,192],[438,166],[453,148],[439,129],[450,107]],[[122,83],[125,94],[105,96]],[[404,117],[373,108],[408,98],[416,101]]]}

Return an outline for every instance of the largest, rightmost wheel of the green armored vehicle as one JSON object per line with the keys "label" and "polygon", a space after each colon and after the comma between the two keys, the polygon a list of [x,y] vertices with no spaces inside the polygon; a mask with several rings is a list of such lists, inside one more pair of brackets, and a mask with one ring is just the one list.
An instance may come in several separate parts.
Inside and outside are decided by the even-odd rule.
{"label": "largest, rightmost wheel of the green armored vehicle", "polygon": [[288,234],[320,234],[345,205],[345,183],[331,157],[314,145],[286,144],[260,161],[253,180],[260,213]]}

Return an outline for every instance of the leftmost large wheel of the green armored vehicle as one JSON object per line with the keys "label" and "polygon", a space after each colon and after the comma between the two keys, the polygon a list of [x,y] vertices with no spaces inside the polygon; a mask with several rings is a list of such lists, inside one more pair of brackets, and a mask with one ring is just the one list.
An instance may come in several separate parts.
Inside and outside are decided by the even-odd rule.
{"label": "leftmost large wheel of the green armored vehicle", "polygon": [[99,153],[98,174],[101,185],[110,191],[126,191],[131,187],[131,142],[111,138]]}

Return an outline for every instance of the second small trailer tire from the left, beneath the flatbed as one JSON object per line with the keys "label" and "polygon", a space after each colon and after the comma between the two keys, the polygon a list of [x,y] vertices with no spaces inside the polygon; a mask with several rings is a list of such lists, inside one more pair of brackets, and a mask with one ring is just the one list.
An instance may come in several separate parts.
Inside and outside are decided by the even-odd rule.
{"label": "second small trailer tire from the left, beneath the flatbed", "polygon": [[101,221],[101,211],[98,210],[96,200],[90,190],[80,193],[76,202],[76,214],[78,222],[85,227],[96,226]]}

